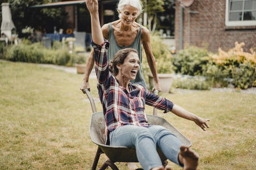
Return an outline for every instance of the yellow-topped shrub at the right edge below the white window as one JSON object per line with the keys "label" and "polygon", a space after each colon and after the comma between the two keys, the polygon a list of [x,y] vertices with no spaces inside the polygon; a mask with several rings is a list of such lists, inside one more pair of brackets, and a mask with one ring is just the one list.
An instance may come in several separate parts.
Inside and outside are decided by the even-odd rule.
{"label": "yellow-topped shrub at the right edge below the white window", "polygon": [[219,53],[211,57],[219,70],[233,79],[235,87],[247,89],[254,86],[256,80],[256,52],[251,49],[251,53],[246,53],[243,46],[244,43],[236,42],[235,47],[228,52],[219,48]]}

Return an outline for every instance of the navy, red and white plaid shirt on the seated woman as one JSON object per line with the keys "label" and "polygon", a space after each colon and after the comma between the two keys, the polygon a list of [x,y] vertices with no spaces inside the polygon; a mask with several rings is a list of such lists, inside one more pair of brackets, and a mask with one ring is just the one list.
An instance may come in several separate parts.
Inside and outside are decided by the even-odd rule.
{"label": "navy, red and white plaid shirt on the seated woman", "polygon": [[130,92],[119,85],[108,67],[107,49],[109,42],[102,45],[93,43],[99,97],[106,122],[106,144],[109,145],[109,132],[124,125],[148,126],[145,104],[169,112],[173,104],[170,100],[154,95],[140,84],[129,83]]}

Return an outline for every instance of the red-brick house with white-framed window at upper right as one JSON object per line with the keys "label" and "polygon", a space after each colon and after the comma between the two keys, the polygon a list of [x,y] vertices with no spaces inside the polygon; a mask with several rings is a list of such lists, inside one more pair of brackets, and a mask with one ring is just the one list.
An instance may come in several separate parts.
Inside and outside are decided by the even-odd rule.
{"label": "red-brick house with white-framed window at upper right", "polygon": [[233,48],[235,41],[244,42],[246,52],[256,47],[255,0],[196,0],[189,8],[183,8],[181,32],[182,9],[179,1],[175,3],[176,49],[186,44],[208,45],[209,51],[218,52],[219,47],[225,50]]}

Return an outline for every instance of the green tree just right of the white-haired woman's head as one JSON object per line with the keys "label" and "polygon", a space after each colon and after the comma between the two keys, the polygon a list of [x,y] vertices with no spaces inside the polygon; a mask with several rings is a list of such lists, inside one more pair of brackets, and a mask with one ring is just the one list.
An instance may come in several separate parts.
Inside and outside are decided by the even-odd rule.
{"label": "green tree just right of the white-haired woman's head", "polygon": [[142,3],[144,12],[147,13],[147,27],[151,33],[154,33],[157,24],[157,13],[164,12],[164,0],[143,0]]}

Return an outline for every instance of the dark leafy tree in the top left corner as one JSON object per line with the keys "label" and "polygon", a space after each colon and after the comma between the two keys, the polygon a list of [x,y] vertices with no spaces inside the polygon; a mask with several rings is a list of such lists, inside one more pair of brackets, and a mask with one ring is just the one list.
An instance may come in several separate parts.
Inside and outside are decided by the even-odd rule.
{"label": "dark leafy tree in the top left corner", "polygon": [[[26,26],[35,29],[44,28],[47,32],[52,32],[53,26],[63,28],[66,17],[63,8],[30,8],[33,5],[51,2],[51,0],[0,0],[1,4],[10,4],[12,20],[19,35]],[[0,22],[2,23],[2,10],[0,14]]]}

